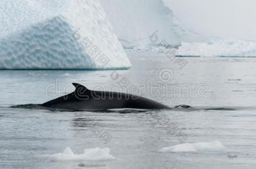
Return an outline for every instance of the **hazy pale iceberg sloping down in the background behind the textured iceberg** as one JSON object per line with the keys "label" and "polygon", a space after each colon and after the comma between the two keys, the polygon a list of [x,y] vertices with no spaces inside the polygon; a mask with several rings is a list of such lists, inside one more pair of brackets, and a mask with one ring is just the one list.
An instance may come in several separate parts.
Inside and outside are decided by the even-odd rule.
{"label": "hazy pale iceberg sloping down in the background behind the textured iceberg", "polygon": [[149,50],[162,40],[167,47],[203,39],[183,27],[162,0],[100,0],[100,3],[126,49]]}

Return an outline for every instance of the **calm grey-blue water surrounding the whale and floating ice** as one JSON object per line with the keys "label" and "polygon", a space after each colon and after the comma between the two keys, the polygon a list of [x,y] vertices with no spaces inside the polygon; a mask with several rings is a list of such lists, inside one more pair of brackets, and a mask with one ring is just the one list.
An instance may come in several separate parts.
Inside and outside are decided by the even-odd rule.
{"label": "calm grey-blue water surrounding the whale and floating ice", "polygon": [[[91,168],[256,167],[256,59],[185,58],[187,64],[180,69],[177,60],[171,61],[164,54],[129,55],[133,55],[133,67],[117,72],[0,71],[0,168],[81,168],[79,161],[47,160],[47,154],[63,152],[66,147],[76,154],[88,148],[109,147],[110,154],[117,158],[101,162],[106,166]],[[129,82],[130,89],[142,86],[141,94],[168,106],[187,104],[238,110],[96,113],[8,108],[44,103],[64,95],[73,91],[72,82],[108,90],[120,87],[124,81]],[[165,116],[168,124],[175,124],[177,132],[185,134],[184,140],[170,134],[157,116]],[[102,133],[95,134],[95,125],[102,126],[101,132],[107,131],[112,139],[106,143],[100,138]],[[182,141],[215,140],[227,147],[227,153],[158,152]]]}

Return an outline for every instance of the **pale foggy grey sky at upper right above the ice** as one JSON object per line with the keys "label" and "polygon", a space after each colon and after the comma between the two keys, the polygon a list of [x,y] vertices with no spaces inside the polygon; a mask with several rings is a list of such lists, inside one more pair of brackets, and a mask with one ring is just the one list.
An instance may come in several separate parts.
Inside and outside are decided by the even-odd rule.
{"label": "pale foggy grey sky at upper right above the ice", "polygon": [[164,0],[183,26],[209,36],[256,40],[256,0]]}

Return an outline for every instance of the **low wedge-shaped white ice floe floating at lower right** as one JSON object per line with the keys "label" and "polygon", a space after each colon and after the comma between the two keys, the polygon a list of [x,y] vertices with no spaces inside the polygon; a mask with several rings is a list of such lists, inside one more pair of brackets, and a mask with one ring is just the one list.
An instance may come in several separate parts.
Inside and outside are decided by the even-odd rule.
{"label": "low wedge-shaped white ice floe floating at lower right", "polygon": [[184,143],[164,147],[159,152],[226,152],[226,147],[220,141]]}

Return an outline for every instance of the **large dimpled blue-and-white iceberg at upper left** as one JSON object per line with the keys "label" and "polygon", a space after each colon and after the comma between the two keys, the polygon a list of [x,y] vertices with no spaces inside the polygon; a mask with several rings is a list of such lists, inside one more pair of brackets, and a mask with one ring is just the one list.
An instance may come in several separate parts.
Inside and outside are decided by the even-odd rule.
{"label": "large dimpled blue-and-white iceberg at upper left", "polygon": [[98,0],[0,1],[0,69],[130,66]]}

